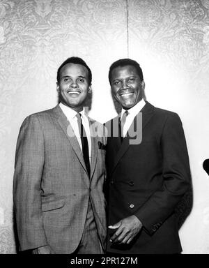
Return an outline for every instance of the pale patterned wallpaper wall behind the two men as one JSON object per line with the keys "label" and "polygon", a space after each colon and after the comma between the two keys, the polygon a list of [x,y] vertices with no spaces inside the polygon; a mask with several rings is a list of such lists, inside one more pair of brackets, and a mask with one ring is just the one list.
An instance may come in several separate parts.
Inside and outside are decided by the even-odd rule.
{"label": "pale patterned wallpaper wall behind the two men", "polygon": [[16,252],[12,186],[20,125],[56,105],[56,70],[72,55],[93,71],[91,117],[104,122],[116,114],[107,73],[127,56],[144,70],[148,101],[180,114],[194,188],[180,238],[185,253],[209,253],[209,178],[201,168],[209,158],[208,0],[0,0],[0,253]]}

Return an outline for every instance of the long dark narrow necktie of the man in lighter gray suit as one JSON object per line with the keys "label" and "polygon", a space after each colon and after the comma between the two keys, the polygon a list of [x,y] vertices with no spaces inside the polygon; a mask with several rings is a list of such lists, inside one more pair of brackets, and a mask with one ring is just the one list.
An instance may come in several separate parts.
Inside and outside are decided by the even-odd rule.
{"label": "long dark narrow necktie of the man in lighter gray suit", "polygon": [[82,151],[84,156],[84,162],[86,164],[86,170],[88,172],[88,176],[90,177],[90,162],[89,162],[89,154],[88,154],[88,140],[86,136],[85,128],[82,124],[82,114],[77,114],[77,122],[79,126],[79,133],[82,141]]}

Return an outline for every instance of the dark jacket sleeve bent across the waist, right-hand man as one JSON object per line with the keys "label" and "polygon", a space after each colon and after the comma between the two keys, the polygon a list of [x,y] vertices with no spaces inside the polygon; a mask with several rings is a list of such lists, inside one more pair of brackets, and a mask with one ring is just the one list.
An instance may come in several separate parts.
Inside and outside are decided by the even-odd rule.
{"label": "dark jacket sleeve bent across the waist, right-hand man", "polygon": [[153,234],[173,213],[191,181],[183,126],[178,114],[171,114],[161,136],[163,184],[135,214]]}

